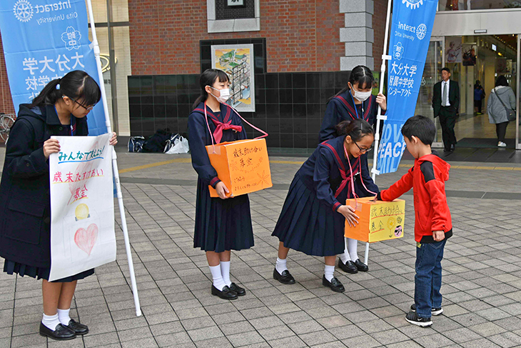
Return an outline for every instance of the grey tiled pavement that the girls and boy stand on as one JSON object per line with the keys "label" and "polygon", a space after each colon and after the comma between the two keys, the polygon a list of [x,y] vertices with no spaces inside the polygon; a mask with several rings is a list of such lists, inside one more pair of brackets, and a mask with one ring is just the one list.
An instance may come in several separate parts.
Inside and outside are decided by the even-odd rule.
{"label": "grey tiled pavement that the girls and boy stand on", "polygon": [[[490,195],[521,193],[520,164],[452,163],[447,190],[457,194],[448,198],[455,235],[442,262],[445,312],[433,317],[433,327],[422,329],[404,319],[414,289],[411,195],[405,196],[405,237],[371,244],[370,272],[335,272],[345,293],[321,285],[322,258],[298,252],[288,257],[298,283],[279,284],[272,279],[278,239],[270,234],[299,167],[287,162],[303,159],[272,156],[275,187],[250,195],[256,246],[232,256],[232,278],[248,293],[227,302],[211,296],[206,257],[193,249],[196,174],[188,156],[120,152],[118,157],[143,316],[133,309],[118,228],[117,261],[98,267],[76,291],[72,316],[91,332],[69,342],[40,337],[40,283],[1,273],[1,348],[521,345],[520,197]],[[380,176],[377,183],[388,187],[406,170]],[[362,244],[359,249],[363,252]]]}

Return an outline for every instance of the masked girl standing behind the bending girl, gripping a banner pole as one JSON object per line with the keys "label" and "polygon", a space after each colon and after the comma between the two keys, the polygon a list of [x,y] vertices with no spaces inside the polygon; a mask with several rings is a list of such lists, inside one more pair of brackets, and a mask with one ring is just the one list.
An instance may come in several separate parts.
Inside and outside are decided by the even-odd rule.
{"label": "masked girl standing behind the bending girl, gripping a banner pole", "polygon": [[[375,78],[367,66],[355,66],[351,71],[348,85],[328,100],[325,116],[320,128],[320,141],[333,139],[337,136],[335,126],[341,121],[350,119],[365,119],[369,124],[376,126],[378,106],[385,114],[387,101],[383,94],[373,96],[373,83]],[[382,129],[382,127],[380,127]],[[381,134],[381,132],[380,132]],[[367,154],[363,154],[367,157]],[[367,159],[365,159],[366,170]],[[358,258],[358,241],[346,238],[344,252],[340,254],[338,266],[344,272],[367,272],[369,267]]]}

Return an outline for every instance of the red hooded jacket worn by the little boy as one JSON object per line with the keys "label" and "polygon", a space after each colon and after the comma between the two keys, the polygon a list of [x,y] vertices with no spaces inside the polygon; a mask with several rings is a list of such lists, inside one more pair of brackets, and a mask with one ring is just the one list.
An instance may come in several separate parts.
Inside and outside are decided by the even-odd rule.
{"label": "red hooded jacket worn by the little boy", "polygon": [[452,221],[445,196],[449,169],[450,164],[435,154],[421,156],[415,159],[407,174],[378,195],[378,199],[392,201],[413,188],[416,242],[434,242],[433,231],[445,232],[445,238],[452,236]]}

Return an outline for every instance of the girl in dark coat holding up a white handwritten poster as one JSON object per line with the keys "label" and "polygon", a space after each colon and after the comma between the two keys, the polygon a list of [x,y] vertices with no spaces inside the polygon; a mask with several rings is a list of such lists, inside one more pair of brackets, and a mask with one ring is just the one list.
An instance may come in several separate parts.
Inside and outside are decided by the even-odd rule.
{"label": "girl in dark coat holding up a white handwritten poster", "polygon": [[[51,207],[49,156],[60,151],[51,136],[88,135],[86,116],[101,98],[98,84],[84,71],[71,71],[47,84],[31,104],[21,104],[6,146],[0,184],[0,256],[4,272],[43,279],[44,318],[40,334],[74,339],[88,327],[69,317],[76,282],[90,269],[49,282]],[[117,143],[116,134],[110,141]],[[23,223],[22,223],[23,222]]]}

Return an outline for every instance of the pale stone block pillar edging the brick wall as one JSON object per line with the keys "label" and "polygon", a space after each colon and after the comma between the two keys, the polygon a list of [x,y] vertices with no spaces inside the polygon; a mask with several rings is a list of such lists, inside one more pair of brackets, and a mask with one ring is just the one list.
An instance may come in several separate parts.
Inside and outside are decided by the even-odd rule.
{"label": "pale stone block pillar edging the brick wall", "polygon": [[340,70],[351,70],[357,65],[373,70],[373,0],[340,0],[340,13],[345,16],[345,27],[340,28],[340,41],[345,42]]}

